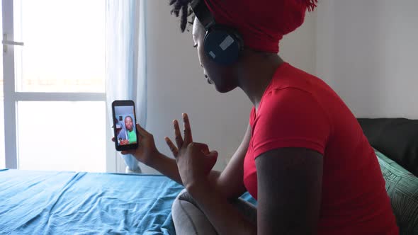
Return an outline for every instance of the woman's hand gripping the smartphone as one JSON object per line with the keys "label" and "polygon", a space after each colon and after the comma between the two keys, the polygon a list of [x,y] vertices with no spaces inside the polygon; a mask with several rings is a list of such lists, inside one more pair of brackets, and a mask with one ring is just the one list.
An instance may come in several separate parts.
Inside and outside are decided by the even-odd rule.
{"label": "woman's hand gripping the smartphone", "polygon": [[[143,129],[139,124],[137,124],[137,135],[137,149],[122,151],[121,154],[132,154],[135,156],[135,159],[149,166],[152,164],[152,161],[159,157],[159,151],[157,150],[157,147],[155,147],[154,137],[151,133],[147,132],[147,130]],[[112,138],[112,140],[115,141],[115,138]]]}

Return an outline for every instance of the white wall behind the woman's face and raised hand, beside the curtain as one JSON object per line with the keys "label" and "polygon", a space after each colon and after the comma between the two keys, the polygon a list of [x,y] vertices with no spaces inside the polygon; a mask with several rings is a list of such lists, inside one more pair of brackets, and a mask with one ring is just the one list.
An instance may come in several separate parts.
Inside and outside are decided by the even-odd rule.
{"label": "white wall behind the woman's face and raised hand, beside the curtain", "polygon": [[[239,146],[247,127],[252,104],[240,90],[220,94],[206,83],[191,33],[181,34],[171,16],[168,1],[147,1],[147,129],[157,148],[169,154],[164,137],[173,137],[171,121],[181,113],[191,118],[193,139],[220,153],[215,168]],[[315,14],[281,43],[283,59],[305,71],[315,71]],[[145,173],[155,173],[142,166]]]}

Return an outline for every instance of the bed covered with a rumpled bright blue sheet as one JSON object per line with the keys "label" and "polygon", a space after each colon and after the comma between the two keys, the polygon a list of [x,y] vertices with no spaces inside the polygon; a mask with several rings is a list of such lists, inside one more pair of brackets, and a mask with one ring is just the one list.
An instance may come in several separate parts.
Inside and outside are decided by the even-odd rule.
{"label": "bed covered with a rumpled bright blue sheet", "polygon": [[4,169],[0,234],[176,234],[182,189],[165,176]]}

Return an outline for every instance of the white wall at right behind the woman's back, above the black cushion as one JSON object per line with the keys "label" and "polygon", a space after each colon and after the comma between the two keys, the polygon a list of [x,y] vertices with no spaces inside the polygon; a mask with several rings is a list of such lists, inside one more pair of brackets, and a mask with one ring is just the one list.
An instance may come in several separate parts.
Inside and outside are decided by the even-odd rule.
{"label": "white wall at right behind the woman's back, above the black cushion", "polygon": [[418,118],[418,1],[321,0],[317,75],[357,117]]}

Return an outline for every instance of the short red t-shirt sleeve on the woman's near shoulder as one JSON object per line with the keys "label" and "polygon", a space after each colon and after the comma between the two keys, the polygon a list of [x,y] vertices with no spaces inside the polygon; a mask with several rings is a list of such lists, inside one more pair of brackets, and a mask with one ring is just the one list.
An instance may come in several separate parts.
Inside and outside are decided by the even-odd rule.
{"label": "short red t-shirt sleeve on the woman's near shoulder", "polygon": [[264,96],[253,131],[254,156],[284,147],[312,149],[324,155],[331,124],[312,94],[298,88]]}

